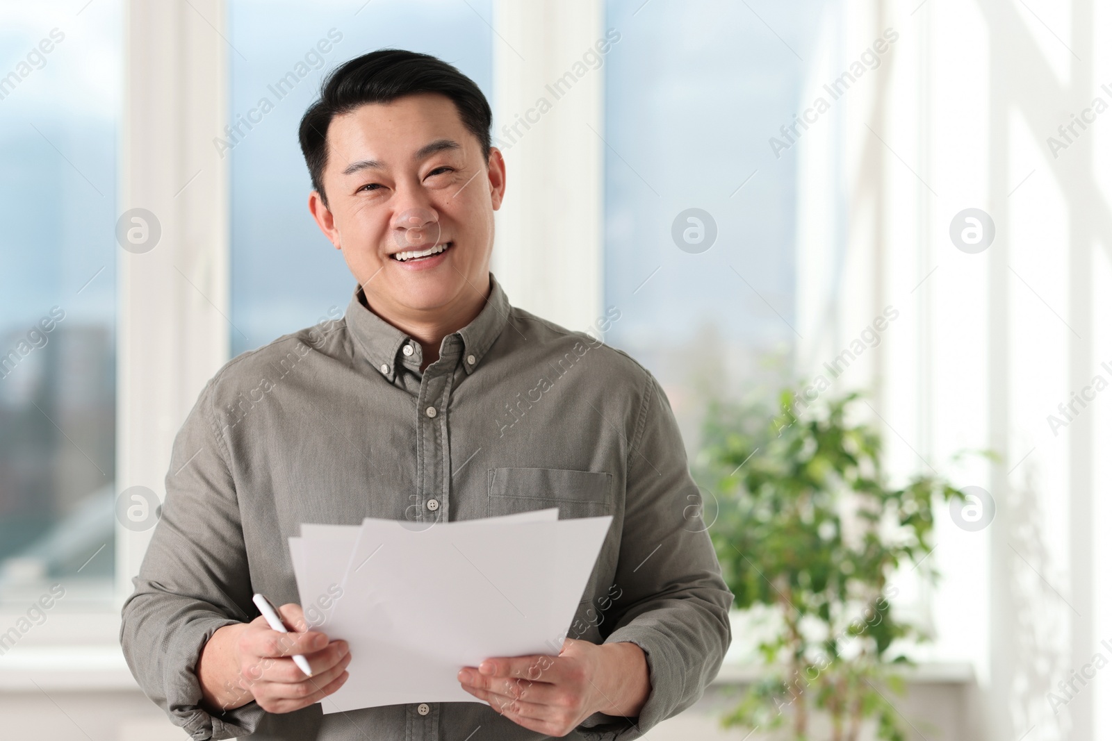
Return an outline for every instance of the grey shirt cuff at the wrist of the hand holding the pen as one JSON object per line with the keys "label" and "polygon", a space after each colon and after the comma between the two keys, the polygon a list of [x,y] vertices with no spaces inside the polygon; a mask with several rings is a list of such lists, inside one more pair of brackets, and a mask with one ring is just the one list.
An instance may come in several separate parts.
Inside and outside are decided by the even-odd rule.
{"label": "grey shirt cuff at the wrist of the hand holding the pen", "polygon": [[216,618],[186,622],[175,631],[172,643],[166,649],[165,710],[170,720],[189,733],[193,741],[235,739],[255,732],[266,711],[251,701],[246,705],[222,713],[211,713],[201,705],[201,685],[195,668],[205,644],[225,625],[237,620]]}

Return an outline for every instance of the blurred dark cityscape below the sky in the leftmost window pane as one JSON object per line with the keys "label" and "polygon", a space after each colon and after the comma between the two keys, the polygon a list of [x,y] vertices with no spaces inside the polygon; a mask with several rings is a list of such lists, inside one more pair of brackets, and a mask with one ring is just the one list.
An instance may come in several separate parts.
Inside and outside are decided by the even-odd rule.
{"label": "blurred dark cityscape below the sky in the leftmost window pane", "polygon": [[[7,328],[0,348],[26,334]],[[67,605],[87,605],[115,573],[113,331],[62,322],[44,337],[0,380],[0,602],[66,577]]]}

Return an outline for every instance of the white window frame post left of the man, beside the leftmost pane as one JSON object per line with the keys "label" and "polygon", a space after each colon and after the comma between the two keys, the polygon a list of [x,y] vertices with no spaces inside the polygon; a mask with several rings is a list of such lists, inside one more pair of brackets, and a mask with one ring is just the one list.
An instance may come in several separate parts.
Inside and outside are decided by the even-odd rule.
{"label": "white window frame post left of the man, beside the leftmost pane", "polygon": [[[161,239],[117,263],[120,491],[165,497],[175,434],[228,360],[228,159],[212,144],[227,122],[226,16],[224,0],[126,3],[119,210],[153,212]],[[152,532],[117,525],[117,607]]]}

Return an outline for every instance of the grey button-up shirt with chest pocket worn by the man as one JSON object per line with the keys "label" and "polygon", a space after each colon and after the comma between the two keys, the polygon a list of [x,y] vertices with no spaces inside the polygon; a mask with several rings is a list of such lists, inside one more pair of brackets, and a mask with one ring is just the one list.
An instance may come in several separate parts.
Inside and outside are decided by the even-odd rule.
{"label": "grey button-up shirt with chest pocket worn by the man", "polygon": [[637,738],[714,678],[733,597],[656,380],[594,337],[510,307],[493,277],[475,321],[420,364],[420,344],[356,290],[342,319],[242,354],[205,387],[175,441],[120,634],[140,687],[193,739],[547,738],[478,702],[208,712],[201,649],[258,615],[254,592],[299,601],[286,539],[302,522],[613,514],[568,637],[636,643],[652,692],[638,718],[596,713],[566,738]]}

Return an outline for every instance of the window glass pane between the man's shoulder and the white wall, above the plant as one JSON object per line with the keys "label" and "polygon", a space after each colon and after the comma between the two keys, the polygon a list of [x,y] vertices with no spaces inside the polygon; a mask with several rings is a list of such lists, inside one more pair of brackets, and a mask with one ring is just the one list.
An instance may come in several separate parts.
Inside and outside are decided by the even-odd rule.
{"label": "window glass pane between the man's shoulder and the white wall, above the plant", "polygon": [[657,375],[688,444],[707,395],[794,352],[796,149],[770,138],[825,4],[606,3],[606,340]]}

